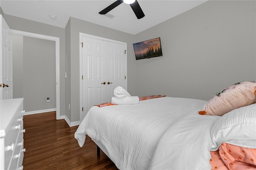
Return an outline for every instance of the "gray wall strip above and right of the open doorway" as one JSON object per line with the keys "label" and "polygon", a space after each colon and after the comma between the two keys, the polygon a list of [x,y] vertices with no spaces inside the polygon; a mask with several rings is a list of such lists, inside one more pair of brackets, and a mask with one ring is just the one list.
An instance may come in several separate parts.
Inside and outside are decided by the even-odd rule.
{"label": "gray wall strip above and right of the open doorway", "polygon": [[4,19],[10,29],[60,38],[60,116],[65,115],[65,29],[7,14]]}

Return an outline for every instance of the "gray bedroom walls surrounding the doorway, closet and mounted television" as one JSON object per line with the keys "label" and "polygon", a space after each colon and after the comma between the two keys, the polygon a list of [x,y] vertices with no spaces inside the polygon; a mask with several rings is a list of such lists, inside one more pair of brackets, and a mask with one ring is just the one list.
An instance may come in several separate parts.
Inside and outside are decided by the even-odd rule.
{"label": "gray bedroom walls surrounding the doorway, closet and mounted television", "polygon": [[[11,29],[60,37],[60,115],[74,122],[81,109],[79,32],[127,43],[131,95],[208,100],[238,81],[256,81],[255,6],[255,1],[208,1],[137,35],[76,18],[70,18],[66,29],[4,18]],[[136,61],[132,43],[156,37],[161,38],[164,56]]]}

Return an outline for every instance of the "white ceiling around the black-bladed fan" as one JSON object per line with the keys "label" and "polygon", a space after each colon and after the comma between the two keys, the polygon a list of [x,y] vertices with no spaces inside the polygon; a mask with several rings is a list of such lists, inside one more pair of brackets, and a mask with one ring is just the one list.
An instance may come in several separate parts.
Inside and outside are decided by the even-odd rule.
{"label": "white ceiling around the black-bladed fan", "polygon": [[[137,19],[130,5],[122,3],[109,13],[98,14],[116,0],[0,0],[4,14],[65,28],[70,17],[101,26],[138,34],[207,0],[138,0],[145,17]],[[55,15],[55,20],[49,15]]]}

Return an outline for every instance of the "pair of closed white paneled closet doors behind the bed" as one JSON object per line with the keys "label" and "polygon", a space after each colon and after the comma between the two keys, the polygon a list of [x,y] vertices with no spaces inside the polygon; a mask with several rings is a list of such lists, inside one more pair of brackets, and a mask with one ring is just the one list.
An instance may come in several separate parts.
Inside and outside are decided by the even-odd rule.
{"label": "pair of closed white paneled closet doors behind the bed", "polygon": [[125,45],[82,36],[82,77],[83,119],[93,105],[111,102],[117,86],[126,89]]}

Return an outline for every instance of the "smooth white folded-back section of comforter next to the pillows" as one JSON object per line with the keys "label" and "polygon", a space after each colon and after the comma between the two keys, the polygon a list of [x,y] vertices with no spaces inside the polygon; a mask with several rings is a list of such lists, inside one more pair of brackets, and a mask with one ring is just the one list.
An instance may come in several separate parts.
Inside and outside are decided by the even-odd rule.
{"label": "smooth white folded-back section of comforter next to the pillows", "polygon": [[[191,112],[177,120],[160,138],[150,170],[210,170],[210,130],[218,116]],[[169,147],[169,148],[168,148]]]}

